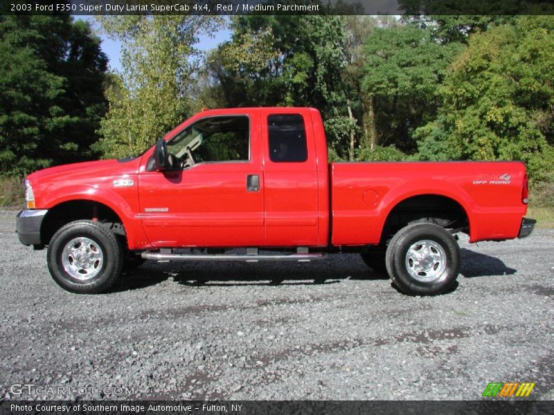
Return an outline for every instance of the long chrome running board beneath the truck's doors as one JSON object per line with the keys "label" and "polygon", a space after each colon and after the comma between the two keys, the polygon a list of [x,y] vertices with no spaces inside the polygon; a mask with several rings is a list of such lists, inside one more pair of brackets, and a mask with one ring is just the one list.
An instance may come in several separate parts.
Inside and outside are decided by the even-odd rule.
{"label": "long chrome running board beneath the truck's doors", "polygon": [[192,254],[166,254],[160,252],[143,252],[143,259],[155,261],[297,261],[310,262],[315,259],[325,258],[324,254],[289,254],[289,255],[192,255]]}

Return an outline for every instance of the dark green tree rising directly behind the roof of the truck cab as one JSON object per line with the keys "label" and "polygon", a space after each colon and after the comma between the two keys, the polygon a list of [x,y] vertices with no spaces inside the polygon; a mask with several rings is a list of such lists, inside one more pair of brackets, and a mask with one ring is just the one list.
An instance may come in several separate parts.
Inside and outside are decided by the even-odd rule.
{"label": "dark green tree rising directly behind the roof of the truck cab", "polygon": [[332,148],[341,158],[353,158],[357,120],[343,79],[344,18],[249,15],[233,19],[232,28],[232,41],[208,63],[227,104],[316,107]]}

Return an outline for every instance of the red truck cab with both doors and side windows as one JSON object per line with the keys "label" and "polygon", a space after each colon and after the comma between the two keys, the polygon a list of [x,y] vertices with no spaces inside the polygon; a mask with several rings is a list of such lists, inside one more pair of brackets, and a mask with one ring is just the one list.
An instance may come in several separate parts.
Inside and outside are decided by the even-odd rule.
{"label": "red truck cab with both doors and side windows", "polygon": [[205,111],[181,124],[159,142],[161,163],[152,149],[139,167],[149,246],[326,246],[324,138],[310,109]]}

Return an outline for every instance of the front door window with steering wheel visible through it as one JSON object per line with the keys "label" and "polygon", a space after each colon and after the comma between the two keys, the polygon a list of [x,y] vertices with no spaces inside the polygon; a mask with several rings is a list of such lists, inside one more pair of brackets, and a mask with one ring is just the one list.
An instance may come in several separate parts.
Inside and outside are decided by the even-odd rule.
{"label": "front door window with steering wheel visible through it", "polygon": [[199,120],[168,142],[168,153],[180,167],[201,162],[247,161],[249,118],[223,116]]}

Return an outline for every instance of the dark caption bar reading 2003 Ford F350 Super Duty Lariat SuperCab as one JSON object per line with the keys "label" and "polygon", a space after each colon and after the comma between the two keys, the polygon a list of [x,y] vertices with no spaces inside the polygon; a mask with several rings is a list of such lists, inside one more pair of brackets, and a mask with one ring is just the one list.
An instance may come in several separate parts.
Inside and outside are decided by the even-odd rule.
{"label": "dark caption bar reading 2003 Ford F350 Super Duty Lariat SuperCab", "polygon": [[553,15],[552,0],[1,0],[0,15]]}

